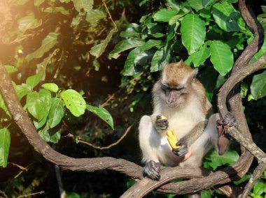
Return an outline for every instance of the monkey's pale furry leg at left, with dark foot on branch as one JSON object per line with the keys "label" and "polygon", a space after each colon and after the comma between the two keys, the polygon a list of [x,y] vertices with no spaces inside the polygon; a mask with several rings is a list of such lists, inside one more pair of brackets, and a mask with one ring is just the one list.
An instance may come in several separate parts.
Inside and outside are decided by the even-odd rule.
{"label": "monkey's pale furry leg at left, with dark foot on branch", "polygon": [[153,127],[150,116],[143,116],[139,123],[139,145],[143,154],[142,161],[146,162],[144,175],[153,180],[159,180],[160,162],[158,148],[160,146],[160,135]]}

